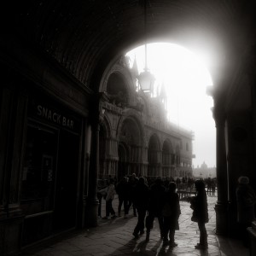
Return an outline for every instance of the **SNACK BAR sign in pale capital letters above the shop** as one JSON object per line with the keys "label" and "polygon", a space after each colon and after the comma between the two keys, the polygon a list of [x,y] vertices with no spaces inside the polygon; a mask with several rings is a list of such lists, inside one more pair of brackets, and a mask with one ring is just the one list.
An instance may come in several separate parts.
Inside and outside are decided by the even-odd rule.
{"label": "SNACK BAR sign in pale capital letters above the shop", "polygon": [[53,109],[46,108],[42,105],[37,106],[37,115],[40,118],[47,119],[51,123],[61,125],[62,127],[68,128],[70,130],[73,130],[74,128],[73,119],[70,119],[63,114],[58,113]]}

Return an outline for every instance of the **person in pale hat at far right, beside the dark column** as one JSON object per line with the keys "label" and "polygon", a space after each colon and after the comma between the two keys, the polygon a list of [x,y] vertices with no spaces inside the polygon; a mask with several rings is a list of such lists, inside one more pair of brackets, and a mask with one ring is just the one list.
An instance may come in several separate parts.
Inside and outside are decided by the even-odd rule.
{"label": "person in pale hat at far right, beside the dark column", "polygon": [[251,226],[255,218],[254,206],[256,196],[253,188],[249,185],[248,177],[239,177],[236,188],[237,222],[240,226],[242,241],[248,246],[247,227]]}

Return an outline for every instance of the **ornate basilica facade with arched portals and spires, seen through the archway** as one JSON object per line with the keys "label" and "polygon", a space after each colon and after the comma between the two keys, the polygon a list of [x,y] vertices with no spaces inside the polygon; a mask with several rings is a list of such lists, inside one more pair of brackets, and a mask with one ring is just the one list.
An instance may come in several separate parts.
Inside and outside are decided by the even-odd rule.
{"label": "ornate basilica facade with arched portals and spires, seen through the archway", "polygon": [[167,120],[164,86],[143,91],[136,67],[121,56],[102,79],[99,178],[191,177],[193,132]]}

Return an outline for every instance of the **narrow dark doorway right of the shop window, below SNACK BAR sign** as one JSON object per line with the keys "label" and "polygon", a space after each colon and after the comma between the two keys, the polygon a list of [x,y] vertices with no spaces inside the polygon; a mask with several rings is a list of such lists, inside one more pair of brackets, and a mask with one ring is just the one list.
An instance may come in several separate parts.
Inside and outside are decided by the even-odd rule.
{"label": "narrow dark doorway right of the shop window, below SNACK BAR sign", "polygon": [[66,230],[76,225],[79,168],[79,136],[60,132],[56,174],[54,230]]}

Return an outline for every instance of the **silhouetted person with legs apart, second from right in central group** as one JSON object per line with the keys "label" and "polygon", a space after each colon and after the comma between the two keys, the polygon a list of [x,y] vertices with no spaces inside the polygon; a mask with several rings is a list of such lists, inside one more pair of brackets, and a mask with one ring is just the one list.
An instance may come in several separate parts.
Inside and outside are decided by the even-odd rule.
{"label": "silhouetted person with legs apart, second from right in central group", "polygon": [[160,235],[161,237],[164,236],[162,209],[164,204],[165,192],[166,188],[162,184],[161,178],[158,177],[149,189],[148,216],[146,218],[146,241],[149,241],[150,230],[153,228],[154,218],[158,218]]}

